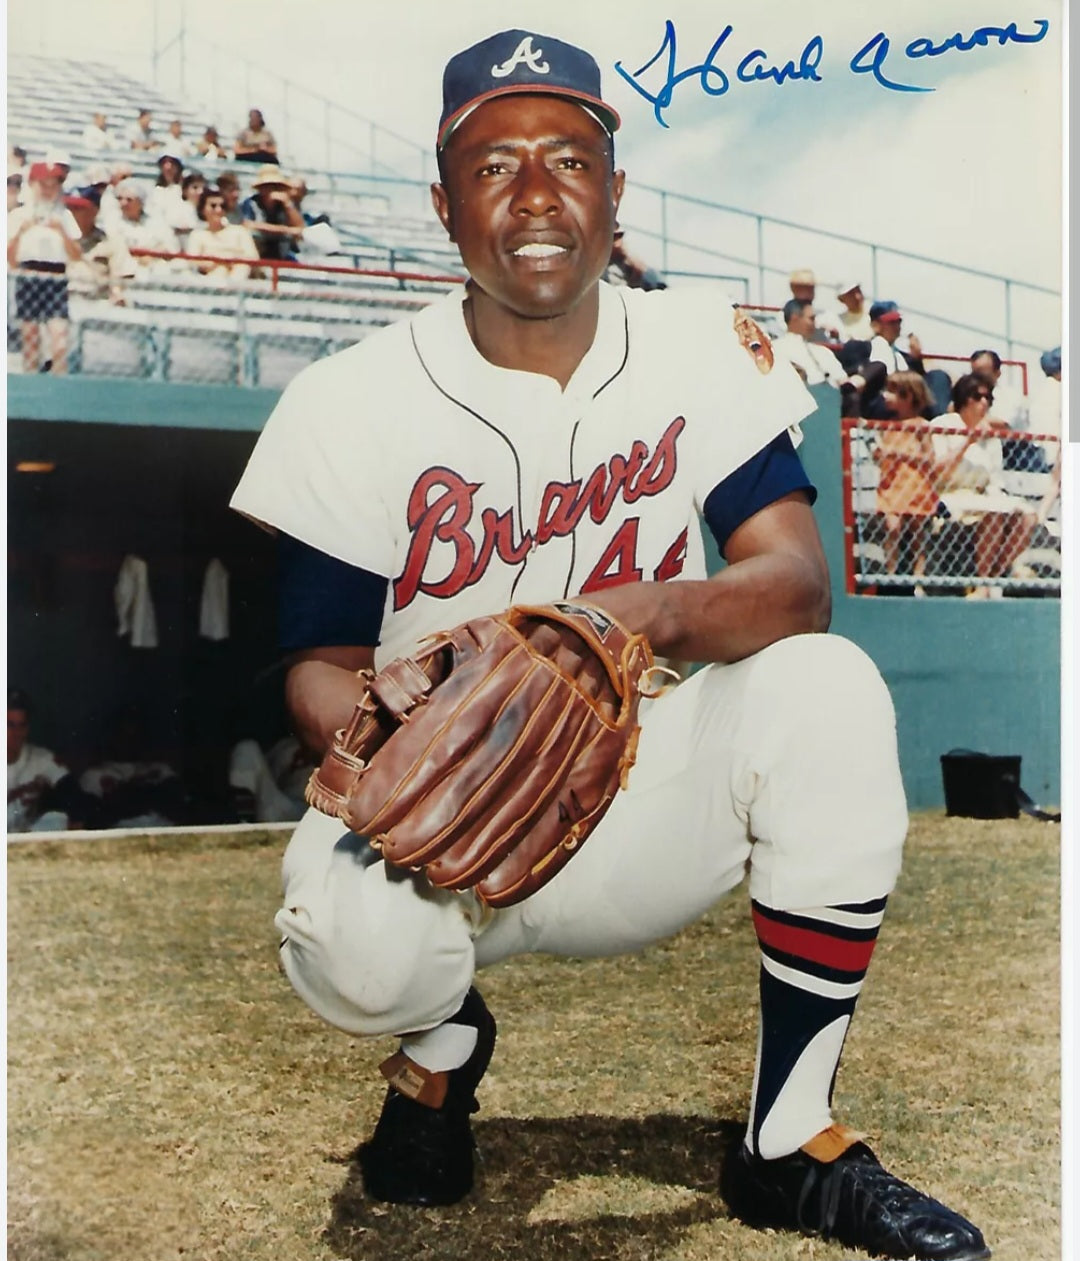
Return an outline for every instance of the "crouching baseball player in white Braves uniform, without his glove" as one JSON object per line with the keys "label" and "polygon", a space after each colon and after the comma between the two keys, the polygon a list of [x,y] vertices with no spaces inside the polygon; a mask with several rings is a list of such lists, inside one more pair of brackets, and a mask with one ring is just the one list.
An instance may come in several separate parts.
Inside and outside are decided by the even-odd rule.
{"label": "crouching baseball player in white Braves uniform, without his glove", "polygon": [[[511,604],[580,599],[707,663],[641,704],[637,763],[588,845],[492,910],[309,811],[276,917],[296,992],[394,1034],[362,1154],[370,1195],[452,1203],[496,1026],[474,975],[507,956],[635,951],[749,873],[761,1031],[729,1207],[893,1257],[989,1256],[830,1111],[906,832],[888,692],[825,634],[829,581],[789,436],[813,409],[722,295],[601,281],[623,173],[590,55],[508,30],[443,81],[435,213],[469,281],[305,369],[232,504],[278,535],[288,701],[313,750],[360,668]],[[707,578],[699,522],[727,565]]]}

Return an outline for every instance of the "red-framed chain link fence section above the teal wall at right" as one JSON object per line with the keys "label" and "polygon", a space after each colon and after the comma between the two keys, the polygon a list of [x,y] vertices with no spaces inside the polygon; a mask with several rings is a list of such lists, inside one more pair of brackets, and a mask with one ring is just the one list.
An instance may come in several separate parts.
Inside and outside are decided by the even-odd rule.
{"label": "red-framed chain link fence section above the teal wall at right", "polygon": [[1061,594],[1060,438],[843,421],[850,594]]}

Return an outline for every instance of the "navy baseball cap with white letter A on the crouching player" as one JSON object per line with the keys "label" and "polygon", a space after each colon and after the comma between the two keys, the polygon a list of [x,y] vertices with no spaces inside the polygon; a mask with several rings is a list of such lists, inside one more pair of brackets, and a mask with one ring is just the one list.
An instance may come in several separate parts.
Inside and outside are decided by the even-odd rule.
{"label": "navy baseball cap with white letter A on the crouching player", "polygon": [[478,105],[512,92],[565,96],[587,110],[608,135],[618,130],[617,111],[601,97],[601,68],[593,57],[551,35],[503,30],[447,62],[435,148],[442,149]]}

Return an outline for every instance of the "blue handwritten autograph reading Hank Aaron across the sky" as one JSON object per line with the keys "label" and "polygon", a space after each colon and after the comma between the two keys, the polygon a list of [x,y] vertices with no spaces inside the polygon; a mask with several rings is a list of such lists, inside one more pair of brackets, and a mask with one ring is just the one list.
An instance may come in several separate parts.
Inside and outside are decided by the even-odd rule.
{"label": "blue handwritten autograph reading Hank Aaron across the sky", "polygon": [[[935,43],[930,37],[921,35],[912,39],[903,49],[903,55],[910,61],[924,57],[941,57],[945,53],[966,53],[973,48],[985,48],[992,43],[1003,47],[1004,44],[1037,44],[1046,38],[1050,23],[1045,18],[1035,19],[1036,30],[1024,34],[1018,30],[1017,24],[1011,21],[1007,26],[979,26],[970,35],[964,37],[959,32]],[[713,42],[705,59],[698,66],[689,66],[686,69],[678,69],[678,37],[675,24],[669,18],[664,24],[664,42],[657,52],[636,71],[628,71],[621,61],[614,63],[616,72],[640,96],[652,106],[652,113],[661,127],[666,127],[664,112],[671,105],[675,88],[688,79],[698,79],[703,92],[708,96],[723,96],[732,86],[732,79],[725,69],[717,64],[717,57],[731,39],[734,28],[728,24]],[[893,92],[934,92],[932,87],[919,87],[912,83],[901,83],[889,78],[886,73],[886,61],[892,53],[892,44],[888,35],[879,30],[863,44],[863,47],[850,59],[848,68],[854,74],[871,74],[881,87]],[[814,35],[807,40],[797,59],[790,59],[777,64],[763,48],[753,48],[738,63],[734,69],[736,81],[741,83],[766,83],[771,82],[777,87],[787,82],[805,81],[820,83],[819,68],[825,55],[825,42],[820,35]],[[650,91],[641,77],[646,74],[657,62],[662,63],[664,79],[656,91]],[[895,72],[893,72],[895,73]]]}

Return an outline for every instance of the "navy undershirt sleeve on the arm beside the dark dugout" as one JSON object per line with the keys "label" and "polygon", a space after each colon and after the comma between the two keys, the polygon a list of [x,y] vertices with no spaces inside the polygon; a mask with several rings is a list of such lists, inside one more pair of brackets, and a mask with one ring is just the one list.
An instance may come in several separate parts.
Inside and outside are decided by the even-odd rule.
{"label": "navy undershirt sleeve on the arm beside the dark dugout", "polygon": [[278,535],[278,642],[285,652],[375,647],[389,578]]}

